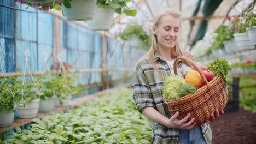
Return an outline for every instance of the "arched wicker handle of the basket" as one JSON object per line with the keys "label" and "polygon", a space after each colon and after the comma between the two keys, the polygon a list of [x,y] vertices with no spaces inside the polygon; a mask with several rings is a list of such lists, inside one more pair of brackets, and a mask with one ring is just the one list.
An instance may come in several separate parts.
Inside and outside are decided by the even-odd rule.
{"label": "arched wicker handle of the basket", "polygon": [[199,72],[199,74],[202,77],[203,80],[203,85],[207,85],[208,90],[210,91],[210,85],[205,77],[205,75],[202,73],[202,70],[195,64],[195,62],[193,62],[190,58],[185,57],[185,56],[179,56],[175,59],[174,64],[173,64],[173,69],[174,69],[174,74],[178,75],[178,71],[177,71],[177,65],[178,65],[178,61],[182,60],[185,63],[188,63],[189,67],[191,67],[191,65],[193,65],[197,71]]}

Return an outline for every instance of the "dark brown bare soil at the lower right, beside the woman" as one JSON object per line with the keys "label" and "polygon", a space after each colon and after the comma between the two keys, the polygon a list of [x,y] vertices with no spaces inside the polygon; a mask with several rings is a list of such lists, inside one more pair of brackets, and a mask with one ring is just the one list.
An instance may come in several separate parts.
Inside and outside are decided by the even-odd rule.
{"label": "dark brown bare soil at the lower right, beside the woman", "polygon": [[226,112],[210,125],[215,144],[256,143],[256,114],[245,109]]}

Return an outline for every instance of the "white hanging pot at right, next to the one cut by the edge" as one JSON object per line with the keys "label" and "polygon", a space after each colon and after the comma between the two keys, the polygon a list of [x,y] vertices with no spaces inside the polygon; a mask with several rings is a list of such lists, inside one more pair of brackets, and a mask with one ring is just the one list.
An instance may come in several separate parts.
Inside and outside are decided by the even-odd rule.
{"label": "white hanging pot at right, next to the one cut by the edge", "polygon": [[236,33],[234,34],[236,44],[240,50],[253,49],[251,41],[249,40],[247,33]]}

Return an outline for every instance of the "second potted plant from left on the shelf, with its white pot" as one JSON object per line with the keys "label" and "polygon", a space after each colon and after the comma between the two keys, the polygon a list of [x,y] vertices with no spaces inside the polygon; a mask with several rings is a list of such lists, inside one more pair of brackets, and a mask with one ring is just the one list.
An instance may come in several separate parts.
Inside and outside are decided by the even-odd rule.
{"label": "second potted plant from left on the shelf, with its white pot", "polygon": [[19,105],[16,107],[17,115],[19,118],[34,118],[37,116],[39,109],[39,97],[43,95],[39,91],[40,81],[26,79],[25,82],[22,81],[19,85],[21,98]]}

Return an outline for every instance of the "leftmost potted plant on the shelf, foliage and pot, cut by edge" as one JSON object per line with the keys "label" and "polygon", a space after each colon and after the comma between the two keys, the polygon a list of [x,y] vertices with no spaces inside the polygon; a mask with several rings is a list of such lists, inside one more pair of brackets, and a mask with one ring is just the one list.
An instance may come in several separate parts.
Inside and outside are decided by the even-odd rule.
{"label": "leftmost potted plant on the shelf, foliage and pot, cut by edge", "polygon": [[11,76],[0,80],[0,127],[7,127],[13,123],[14,110],[20,100],[20,83]]}

